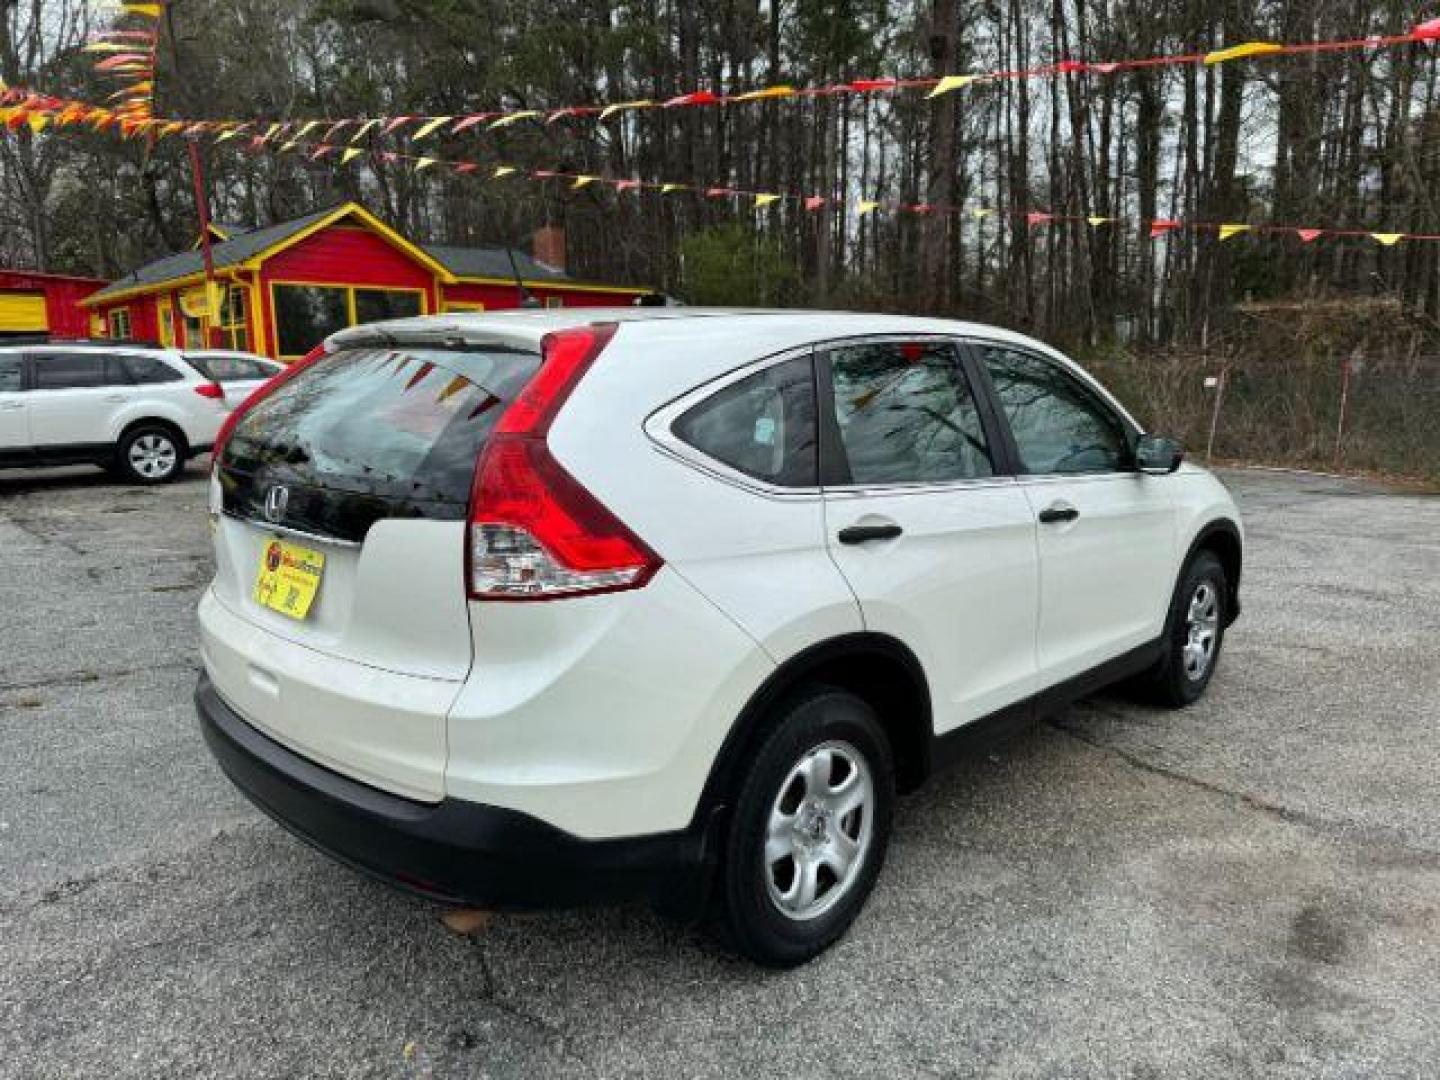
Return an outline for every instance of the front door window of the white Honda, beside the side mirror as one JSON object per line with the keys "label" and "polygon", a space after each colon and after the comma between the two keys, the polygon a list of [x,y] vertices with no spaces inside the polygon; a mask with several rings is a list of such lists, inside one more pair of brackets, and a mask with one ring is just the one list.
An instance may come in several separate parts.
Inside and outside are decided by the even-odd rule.
{"label": "front door window of the white Honda, beside the side mirror", "polygon": [[981,347],[1027,472],[1119,472],[1130,441],[1120,419],[1060,364]]}

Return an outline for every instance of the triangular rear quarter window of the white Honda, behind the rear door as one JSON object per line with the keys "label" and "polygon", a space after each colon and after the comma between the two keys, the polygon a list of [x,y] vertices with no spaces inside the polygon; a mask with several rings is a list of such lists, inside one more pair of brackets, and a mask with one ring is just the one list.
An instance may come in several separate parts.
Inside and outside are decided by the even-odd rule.
{"label": "triangular rear quarter window of the white Honda, behind the rear door", "polygon": [[701,454],[778,487],[818,484],[815,380],[809,357],[732,383],[675,420]]}

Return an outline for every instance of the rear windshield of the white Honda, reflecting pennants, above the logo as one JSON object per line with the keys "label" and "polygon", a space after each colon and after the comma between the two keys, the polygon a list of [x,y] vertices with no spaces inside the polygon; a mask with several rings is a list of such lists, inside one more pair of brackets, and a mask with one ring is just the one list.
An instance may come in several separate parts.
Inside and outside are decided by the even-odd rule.
{"label": "rear windshield of the white Honda, reflecting pennants, above the logo", "polygon": [[226,444],[228,513],[264,518],[289,490],[285,524],[361,541],[386,517],[462,520],[475,462],[539,353],[351,348],[325,357],[245,413]]}

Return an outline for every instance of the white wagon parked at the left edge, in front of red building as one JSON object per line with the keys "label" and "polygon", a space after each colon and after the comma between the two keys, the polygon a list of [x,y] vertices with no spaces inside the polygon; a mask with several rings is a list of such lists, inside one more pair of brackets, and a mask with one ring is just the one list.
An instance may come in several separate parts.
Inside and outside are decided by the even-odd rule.
{"label": "white wagon parked at the left edge, in front of red building", "polygon": [[89,464],[163,484],[210,451],[230,408],[170,350],[0,343],[0,468]]}

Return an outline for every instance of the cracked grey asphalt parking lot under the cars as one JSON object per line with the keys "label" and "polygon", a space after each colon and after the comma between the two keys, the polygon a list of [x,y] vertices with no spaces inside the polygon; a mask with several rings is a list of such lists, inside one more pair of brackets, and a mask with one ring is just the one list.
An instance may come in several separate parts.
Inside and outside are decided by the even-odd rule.
{"label": "cracked grey asphalt parking lot under the cars", "polygon": [[192,717],[200,477],[0,474],[0,1074],[1440,1071],[1440,498],[1227,474],[1210,697],[933,782],[770,973],[644,910],[461,937],[243,802]]}

